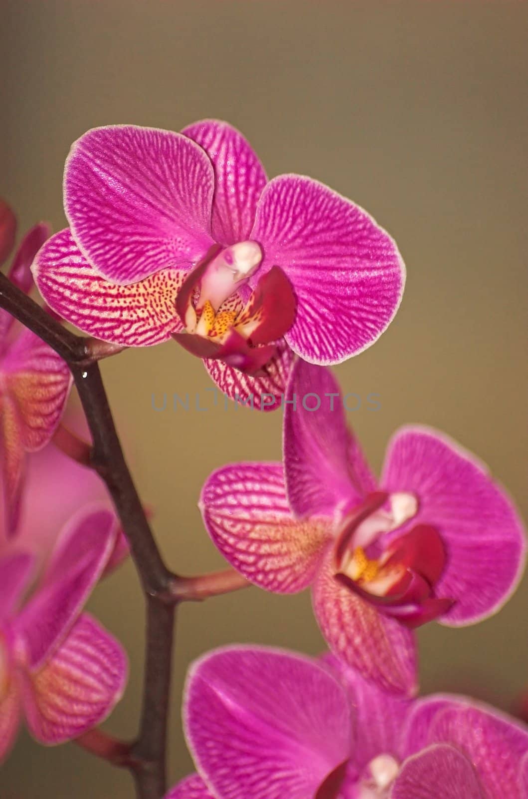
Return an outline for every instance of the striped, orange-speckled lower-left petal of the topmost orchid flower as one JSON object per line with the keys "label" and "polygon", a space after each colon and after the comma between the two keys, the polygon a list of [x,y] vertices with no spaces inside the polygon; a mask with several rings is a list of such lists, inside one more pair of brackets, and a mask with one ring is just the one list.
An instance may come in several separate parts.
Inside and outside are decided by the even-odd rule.
{"label": "striped, orange-speckled lower-left petal of the topmost orchid flower", "polygon": [[147,347],[183,329],[175,298],[184,270],[160,269],[128,286],[108,283],[82,256],[68,229],[56,233],[38,252],[33,276],[50,308],[103,341]]}

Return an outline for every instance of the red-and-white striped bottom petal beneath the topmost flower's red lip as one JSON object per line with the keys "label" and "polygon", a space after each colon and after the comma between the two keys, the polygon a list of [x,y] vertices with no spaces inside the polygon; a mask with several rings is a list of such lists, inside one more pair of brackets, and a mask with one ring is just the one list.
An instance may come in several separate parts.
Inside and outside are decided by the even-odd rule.
{"label": "red-and-white striped bottom petal beneath the topmost flower's red lip", "polygon": [[279,342],[277,355],[266,364],[266,375],[259,377],[246,375],[221,360],[205,360],[203,363],[220,391],[235,403],[259,411],[274,411],[282,406],[294,353],[284,341]]}

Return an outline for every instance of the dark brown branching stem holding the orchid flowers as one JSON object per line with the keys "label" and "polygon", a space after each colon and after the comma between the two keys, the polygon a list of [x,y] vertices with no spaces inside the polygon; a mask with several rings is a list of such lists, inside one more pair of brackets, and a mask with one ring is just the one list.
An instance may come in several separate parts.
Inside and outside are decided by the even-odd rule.
{"label": "dark brown branching stem holding the orchid flowers", "polygon": [[[171,658],[175,609],[187,599],[225,594],[246,585],[231,570],[181,578],[165,566],[143,504],[124,459],[97,361],[121,348],[77,336],[0,274],[0,308],[49,344],[68,364],[85,411],[93,446],[90,466],[106,483],[140,576],[146,602],[144,687],[140,732],[132,745],[93,730],[77,741],[116,765],[127,765],[136,780],[138,799],[162,799],[167,790],[167,719],[170,706]],[[82,459],[87,451],[73,434],[57,432],[69,453]],[[119,762],[118,762],[119,761]]]}

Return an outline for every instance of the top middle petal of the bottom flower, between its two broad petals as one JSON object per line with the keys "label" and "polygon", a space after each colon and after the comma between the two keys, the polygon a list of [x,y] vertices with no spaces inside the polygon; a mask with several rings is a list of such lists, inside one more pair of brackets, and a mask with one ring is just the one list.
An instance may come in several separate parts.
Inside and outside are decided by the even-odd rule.
{"label": "top middle petal of the bottom flower, between its two broad petals", "polygon": [[401,730],[412,708],[412,700],[381,690],[333,654],[326,654],[322,662],[345,687],[350,706],[354,709],[357,734],[352,759],[357,773],[361,773],[380,753],[399,760]]}

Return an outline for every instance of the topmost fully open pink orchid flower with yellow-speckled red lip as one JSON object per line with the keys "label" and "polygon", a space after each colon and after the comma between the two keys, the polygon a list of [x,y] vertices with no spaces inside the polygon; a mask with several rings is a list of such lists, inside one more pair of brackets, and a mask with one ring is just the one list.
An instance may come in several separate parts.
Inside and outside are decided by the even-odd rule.
{"label": "topmost fully open pink orchid flower with yellow-speckled red lip", "polygon": [[174,336],[256,406],[278,407],[292,352],[336,364],[400,304],[404,264],[372,217],[309,177],[268,181],[226,122],[89,130],[66,161],[64,201],[69,229],[33,264],[50,307],[115,344]]}

